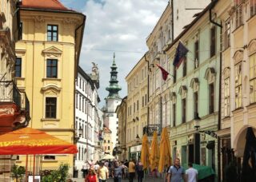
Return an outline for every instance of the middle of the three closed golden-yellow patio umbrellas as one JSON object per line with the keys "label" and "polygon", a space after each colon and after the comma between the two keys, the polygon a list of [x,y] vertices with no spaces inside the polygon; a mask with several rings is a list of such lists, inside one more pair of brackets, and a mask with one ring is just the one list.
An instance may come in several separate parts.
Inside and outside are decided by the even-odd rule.
{"label": "middle of the three closed golden-yellow patio umbrellas", "polygon": [[157,168],[159,164],[159,146],[158,146],[158,133],[154,131],[153,140],[150,149],[150,169]]}

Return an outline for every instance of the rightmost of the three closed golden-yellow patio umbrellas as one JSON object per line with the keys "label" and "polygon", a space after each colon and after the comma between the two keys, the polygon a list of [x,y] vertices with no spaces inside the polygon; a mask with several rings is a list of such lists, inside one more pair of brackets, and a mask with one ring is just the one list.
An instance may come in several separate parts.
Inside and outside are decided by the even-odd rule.
{"label": "rightmost of the three closed golden-yellow patio umbrellas", "polygon": [[160,142],[160,159],[158,165],[158,172],[162,172],[163,168],[170,166],[170,140],[167,133],[167,129],[162,129],[161,142]]}

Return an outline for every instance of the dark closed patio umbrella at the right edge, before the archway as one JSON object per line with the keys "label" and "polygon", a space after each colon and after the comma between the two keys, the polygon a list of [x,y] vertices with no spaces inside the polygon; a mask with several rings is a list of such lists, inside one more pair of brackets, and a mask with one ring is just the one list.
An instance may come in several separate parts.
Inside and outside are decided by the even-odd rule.
{"label": "dark closed patio umbrella at the right edge, before the archway", "polygon": [[247,129],[246,146],[242,161],[242,181],[249,182],[256,179],[256,138],[251,127]]}

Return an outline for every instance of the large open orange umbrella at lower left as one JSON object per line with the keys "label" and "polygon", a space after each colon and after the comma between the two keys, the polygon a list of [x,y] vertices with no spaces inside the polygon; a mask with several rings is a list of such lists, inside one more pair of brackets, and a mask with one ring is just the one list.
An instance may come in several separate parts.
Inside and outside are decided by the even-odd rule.
{"label": "large open orange umbrella at lower left", "polygon": [[24,128],[0,136],[0,155],[77,153],[78,148],[42,131]]}

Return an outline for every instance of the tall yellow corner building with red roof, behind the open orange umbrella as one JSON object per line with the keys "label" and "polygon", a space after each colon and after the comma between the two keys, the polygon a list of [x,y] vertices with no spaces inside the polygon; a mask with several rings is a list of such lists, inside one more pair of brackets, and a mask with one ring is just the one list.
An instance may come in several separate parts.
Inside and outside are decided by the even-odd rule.
{"label": "tall yellow corner building with red roof, behind the open orange umbrella", "polygon": [[[56,0],[23,0],[20,16],[16,81],[30,100],[29,126],[73,143],[74,85],[86,16]],[[25,165],[23,158],[18,165]],[[38,156],[37,172],[56,169],[61,163],[70,164],[72,172],[74,155]]]}

